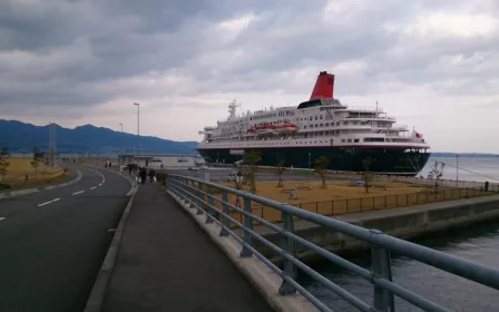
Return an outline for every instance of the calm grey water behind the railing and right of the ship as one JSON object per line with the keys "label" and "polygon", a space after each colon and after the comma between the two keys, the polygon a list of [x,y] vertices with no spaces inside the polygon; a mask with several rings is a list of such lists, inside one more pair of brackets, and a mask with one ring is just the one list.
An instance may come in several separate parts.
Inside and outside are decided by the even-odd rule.
{"label": "calm grey water behind the railing and right of the ship", "polygon": [[[456,179],[456,158],[433,158],[444,162],[444,177]],[[425,176],[427,168],[422,174]],[[499,181],[499,158],[459,158],[459,179]],[[493,181],[496,178],[498,181]],[[443,251],[467,260],[482,263],[499,270],[499,222],[440,234],[436,238],[420,240],[417,243]],[[462,312],[499,312],[499,291],[453,276],[447,272],[405,257],[392,255],[393,280],[400,285],[431,299],[450,309]],[[370,254],[363,253],[349,259],[361,266],[370,266]],[[372,285],[331,263],[314,264],[313,267],[324,276],[341,285],[355,296],[372,304]],[[311,279],[300,276],[306,289],[323,300],[334,311],[358,311],[333,292],[325,290]],[[418,308],[395,299],[398,311],[421,311]]]}

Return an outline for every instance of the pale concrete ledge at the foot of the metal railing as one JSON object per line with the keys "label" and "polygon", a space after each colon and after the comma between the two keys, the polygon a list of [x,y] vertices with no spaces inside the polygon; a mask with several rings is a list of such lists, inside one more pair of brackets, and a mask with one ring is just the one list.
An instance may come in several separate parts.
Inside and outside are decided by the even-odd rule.
{"label": "pale concrete ledge at the foot of the metal railing", "polygon": [[[186,213],[196,221],[209,238],[226,254],[231,262],[243,273],[243,275],[252,283],[256,291],[263,296],[268,305],[276,312],[312,312],[319,311],[302,294],[280,295],[281,276],[272,269],[266,266],[257,257],[239,257],[242,245],[232,236],[219,236],[222,227],[216,223],[205,223],[205,213],[196,215],[196,209],[189,208],[189,204],[182,201],[170,191],[166,191],[175,202]],[[85,311],[87,312],[87,311]]]}

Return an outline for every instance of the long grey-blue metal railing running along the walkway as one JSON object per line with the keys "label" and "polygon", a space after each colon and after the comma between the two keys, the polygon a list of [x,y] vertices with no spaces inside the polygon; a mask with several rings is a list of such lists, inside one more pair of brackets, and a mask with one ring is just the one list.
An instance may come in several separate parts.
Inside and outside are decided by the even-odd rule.
{"label": "long grey-blue metal railing running along the walkway", "polygon": [[[255,256],[278,274],[282,277],[282,284],[278,289],[281,295],[290,295],[299,292],[320,311],[332,310],[296,282],[297,270],[301,270],[301,272],[307,274],[324,287],[332,290],[340,298],[348,301],[360,311],[394,312],[394,296],[399,296],[424,311],[450,311],[394,283],[392,281],[391,272],[391,253],[407,256],[470,281],[474,281],[479,284],[499,290],[499,270],[399,240],[378,230],[368,230],[339,220],[314,214],[285,203],[278,203],[193,177],[167,175],[166,187],[169,192],[187,203],[190,208],[196,209],[196,214],[206,215],[206,223],[218,224],[222,228],[219,233],[221,236],[232,236],[238,241],[242,244],[241,257]],[[221,195],[221,197],[215,194]],[[244,203],[243,207],[239,208],[231,204],[229,195],[242,197]],[[222,209],[215,205],[216,202],[222,205]],[[253,214],[253,203],[281,212],[282,225],[271,223]],[[238,222],[237,220],[234,220],[231,216],[232,211],[243,214],[244,221]],[[371,245],[371,270],[349,262],[348,260],[296,235],[294,231],[295,218],[305,220],[330,228],[331,231],[336,231],[355,237]],[[263,235],[258,234],[255,230],[255,223],[281,234],[284,237],[283,245],[277,246],[266,240]],[[231,224],[235,224],[243,231],[242,236],[237,235]],[[273,250],[283,259],[283,269],[280,269],[255,248],[255,240]],[[296,259],[296,244],[303,245],[335,265],[369,281],[373,285],[374,296],[372,306]]]}

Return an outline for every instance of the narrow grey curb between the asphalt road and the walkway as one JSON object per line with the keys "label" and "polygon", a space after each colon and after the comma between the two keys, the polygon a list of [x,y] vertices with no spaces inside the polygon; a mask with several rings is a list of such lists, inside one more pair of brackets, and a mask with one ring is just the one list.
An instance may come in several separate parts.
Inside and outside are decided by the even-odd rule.
{"label": "narrow grey curb between the asphalt road and the walkway", "polygon": [[127,193],[129,197],[127,206],[125,207],[121,217],[116,228],[115,235],[112,236],[111,244],[106,253],[102,265],[100,266],[99,274],[97,275],[94,287],[91,289],[90,295],[88,296],[87,304],[85,305],[84,312],[100,312],[102,310],[102,303],[107,291],[107,285],[112,276],[112,271],[115,270],[116,260],[118,257],[119,247],[121,245],[123,236],[125,234],[125,227],[130,214],[131,207],[134,205],[135,195],[138,191],[138,184],[136,181],[129,178],[128,176],[115,172],[112,169],[107,169],[115,174],[118,174],[126,178],[130,183],[130,191]]}

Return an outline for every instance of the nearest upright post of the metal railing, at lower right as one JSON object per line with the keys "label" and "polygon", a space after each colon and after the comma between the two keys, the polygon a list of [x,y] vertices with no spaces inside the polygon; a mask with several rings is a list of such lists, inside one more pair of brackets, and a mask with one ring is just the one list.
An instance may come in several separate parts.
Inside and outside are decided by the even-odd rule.
{"label": "nearest upright post of the metal railing, at lower right", "polygon": [[[370,230],[373,235],[383,234],[378,230]],[[378,246],[371,246],[372,271],[375,277],[392,281],[392,269],[390,252]],[[374,308],[382,312],[395,312],[393,294],[380,286],[374,285]]]}

